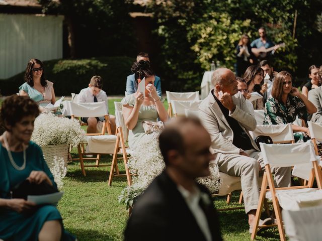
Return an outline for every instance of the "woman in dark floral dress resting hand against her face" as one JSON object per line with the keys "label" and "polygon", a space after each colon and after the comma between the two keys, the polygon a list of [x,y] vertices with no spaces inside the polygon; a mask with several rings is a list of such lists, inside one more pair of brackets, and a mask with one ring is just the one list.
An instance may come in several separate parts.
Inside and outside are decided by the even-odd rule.
{"label": "woman in dark floral dress resting hand against her face", "polygon": [[[275,77],[272,98],[265,104],[264,125],[288,124],[296,116],[306,123],[307,113],[316,112],[316,107],[297,88],[292,87],[292,76],[281,71]],[[292,125],[295,142],[306,142],[310,139],[307,127]]]}

